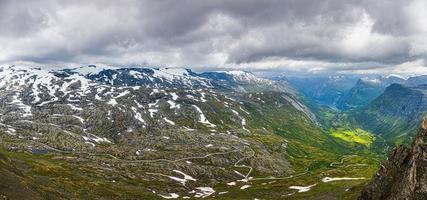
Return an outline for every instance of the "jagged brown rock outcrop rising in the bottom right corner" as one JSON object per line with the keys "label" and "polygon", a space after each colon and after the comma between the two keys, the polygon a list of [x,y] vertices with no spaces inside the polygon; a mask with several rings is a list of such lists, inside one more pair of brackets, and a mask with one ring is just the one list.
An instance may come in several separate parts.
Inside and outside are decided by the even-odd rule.
{"label": "jagged brown rock outcrop rising in the bottom right corner", "polygon": [[359,199],[427,199],[426,118],[411,149],[395,149]]}

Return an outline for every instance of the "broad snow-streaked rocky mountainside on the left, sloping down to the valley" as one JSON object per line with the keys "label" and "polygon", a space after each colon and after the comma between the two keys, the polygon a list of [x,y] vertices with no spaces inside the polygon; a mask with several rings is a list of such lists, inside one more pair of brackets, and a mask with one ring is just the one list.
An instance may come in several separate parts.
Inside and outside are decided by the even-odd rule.
{"label": "broad snow-streaked rocky mountainside on the left, sloping down to the valley", "polygon": [[150,67],[1,67],[0,144],[64,199],[249,195],[351,152],[284,81]]}

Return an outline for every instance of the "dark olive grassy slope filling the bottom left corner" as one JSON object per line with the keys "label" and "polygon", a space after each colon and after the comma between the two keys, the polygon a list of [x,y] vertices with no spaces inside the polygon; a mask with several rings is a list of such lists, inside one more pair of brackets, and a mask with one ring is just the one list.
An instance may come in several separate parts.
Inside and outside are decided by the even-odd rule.
{"label": "dark olive grassy slope filling the bottom left corner", "polygon": [[[0,148],[0,197],[10,199],[160,199],[147,190],[156,182],[117,179],[94,165]],[[13,186],[13,187],[12,187]],[[159,185],[160,187],[160,185]],[[8,199],[6,198],[6,199]]]}

